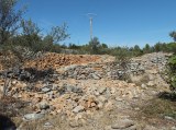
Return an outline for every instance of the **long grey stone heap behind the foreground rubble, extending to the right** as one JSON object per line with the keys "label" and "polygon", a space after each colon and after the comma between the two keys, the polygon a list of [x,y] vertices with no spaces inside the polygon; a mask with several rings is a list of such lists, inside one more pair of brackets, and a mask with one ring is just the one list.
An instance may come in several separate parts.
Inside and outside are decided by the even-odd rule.
{"label": "long grey stone heap behind the foreground rubble, extending to the right", "polygon": [[57,68],[56,71],[61,79],[76,79],[76,80],[99,80],[111,79],[120,80],[124,74],[140,75],[147,70],[155,69],[156,73],[161,72],[167,63],[167,55],[157,52],[148,54],[140,58],[134,58],[127,64],[128,70],[124,70],[117,62],[107,63],[88,63],[85,66],[69,66]]}

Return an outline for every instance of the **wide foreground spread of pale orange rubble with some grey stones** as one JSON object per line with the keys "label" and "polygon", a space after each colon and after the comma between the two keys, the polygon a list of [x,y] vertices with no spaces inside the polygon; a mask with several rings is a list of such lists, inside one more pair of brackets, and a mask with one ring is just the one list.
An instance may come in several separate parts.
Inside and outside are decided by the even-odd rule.
{"label": "wide foreground spread of pale orange rubble with some grey stones", "polygon": [[136,98],[140,93],[141,90],[135,84],[118,80],[58,80],[33,85],[13,80],[8,92],[9,95],[28,102],[33,115],[66,114],[69,118],[79,118],[98,109],[110,110],[117,101]]}

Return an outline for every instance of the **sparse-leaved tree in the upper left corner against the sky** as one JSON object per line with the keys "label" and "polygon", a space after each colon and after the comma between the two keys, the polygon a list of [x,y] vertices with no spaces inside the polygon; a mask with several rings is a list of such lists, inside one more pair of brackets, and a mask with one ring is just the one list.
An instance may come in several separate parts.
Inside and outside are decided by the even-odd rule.
{"label": "sparse-leaved tree in the upper left corner against the sky", "polygon": [[15,11],[18,0],[0,0],[0,45],[7,43],[10,36],[20,28],[24,10]]}

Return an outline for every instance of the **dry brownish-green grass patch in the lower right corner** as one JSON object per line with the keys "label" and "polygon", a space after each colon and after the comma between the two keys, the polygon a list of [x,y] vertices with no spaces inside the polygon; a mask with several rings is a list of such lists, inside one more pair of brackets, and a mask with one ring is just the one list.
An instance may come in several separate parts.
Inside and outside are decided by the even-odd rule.
{"label": "dry brownish-green grass patch in the lower right corner", "polygon": [[132,117],[138,120],[141,128],[146,126],[172,128],[176,123],[176,102],[154,97],[140,104],[139,108],[140,110]]}

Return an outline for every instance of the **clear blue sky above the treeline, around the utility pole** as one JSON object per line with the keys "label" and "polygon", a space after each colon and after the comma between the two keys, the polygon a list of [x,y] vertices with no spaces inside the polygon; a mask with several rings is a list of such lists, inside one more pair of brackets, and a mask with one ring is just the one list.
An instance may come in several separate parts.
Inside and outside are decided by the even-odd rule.
{"label": "clear blue sky above the treeline, around the utility pole", "polygon": [[32,19],[47,33],[54,25],[66,22],[70,39],[66,43],[89,42],[89,19],[96,13],[94,36],[109,46],[143,47],[157,42],[172,42],[176,29],[176,0],[21,0],[28,4],[25,19]]}

